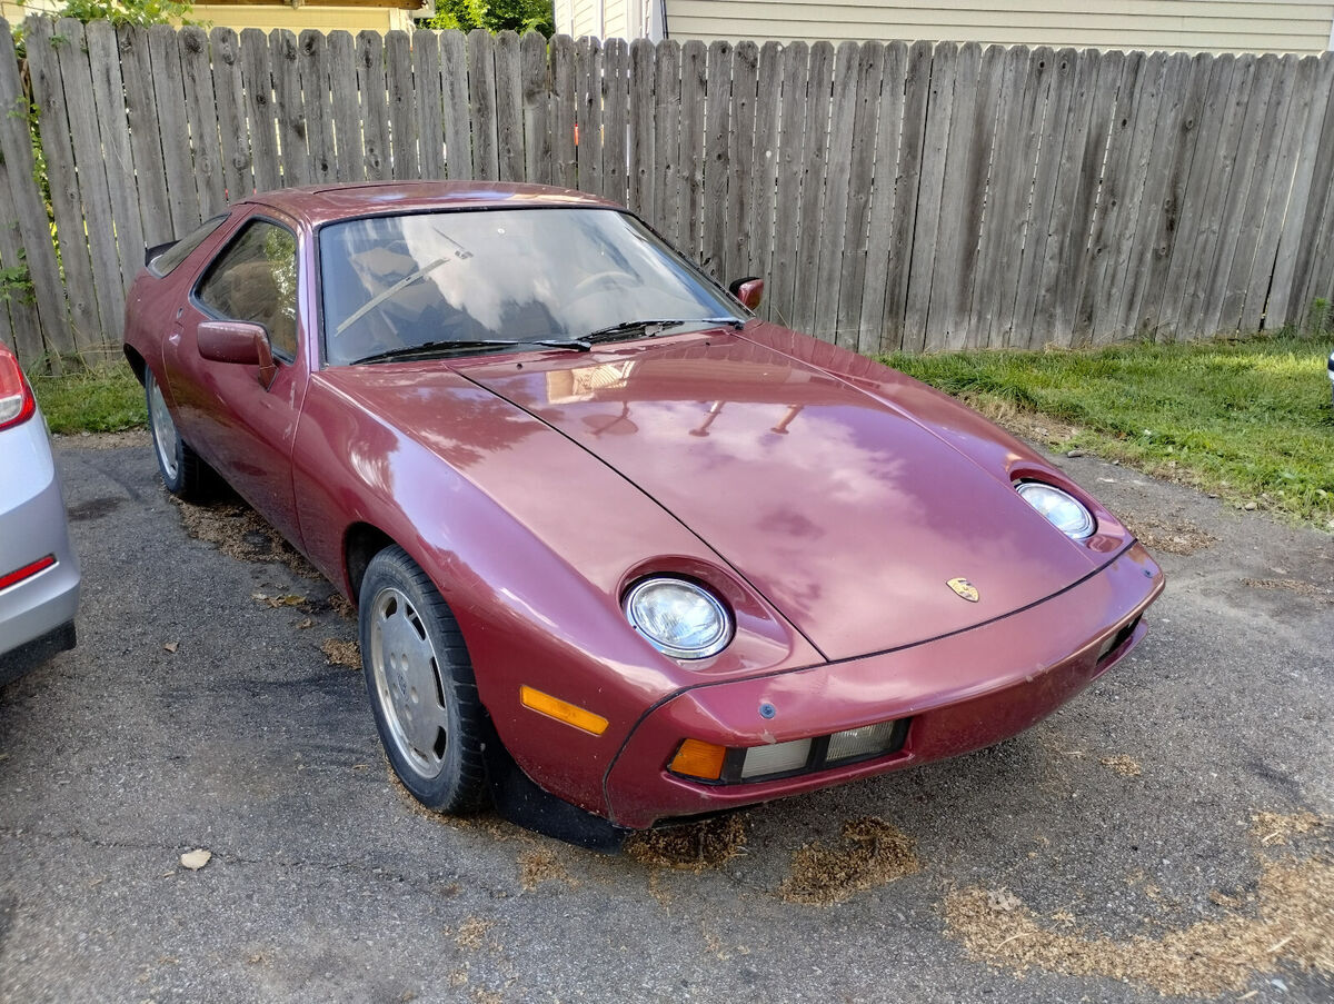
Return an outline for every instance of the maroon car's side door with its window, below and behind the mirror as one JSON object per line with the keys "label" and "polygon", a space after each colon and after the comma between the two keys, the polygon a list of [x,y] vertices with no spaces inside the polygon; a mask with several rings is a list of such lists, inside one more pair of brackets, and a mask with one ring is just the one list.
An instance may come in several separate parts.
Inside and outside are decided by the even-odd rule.
{"label": "maroon car's side door with its window, below and behind the mirror", "polygon": [[[309,381],[299,234],[276,215],[237,226],[191,290],[165,360],[181,434],[297,546],[292,445]],[[260,324],[276,364],[272,379],[265,385],[257,366],[200,356],[199,326],[208,320]]]}

